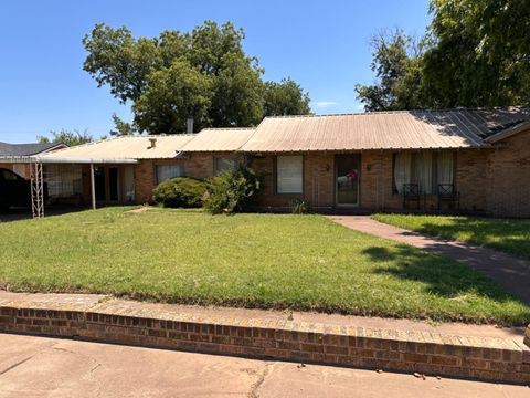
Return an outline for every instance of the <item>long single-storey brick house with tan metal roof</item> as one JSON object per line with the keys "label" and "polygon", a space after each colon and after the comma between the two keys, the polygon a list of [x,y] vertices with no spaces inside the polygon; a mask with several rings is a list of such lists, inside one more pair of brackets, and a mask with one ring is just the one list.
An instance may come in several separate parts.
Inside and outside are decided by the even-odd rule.
{"label": "long single-storey brick house with tan metal roof", "polygon": [[141,203],[163,179],[209,178],[234,158],[265,175],[265,208],[300,198],[322,210],[530,217],[523,107],[266,117],[256,128],[120,137],[38,157],[57,176],[68,168],[62,184],[86,203],[92,169],[97,201]]}

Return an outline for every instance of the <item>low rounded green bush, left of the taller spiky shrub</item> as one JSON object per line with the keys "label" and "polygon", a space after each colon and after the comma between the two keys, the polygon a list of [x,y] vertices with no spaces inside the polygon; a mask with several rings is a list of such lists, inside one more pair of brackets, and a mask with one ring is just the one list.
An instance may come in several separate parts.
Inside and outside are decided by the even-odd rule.
{"label": "low rounded green bush, left of the taller spiky shrub", "polygon": [[206,191],[204,181],[177,177],[160,182],[152,191],[155,200],[169,208],[198,208],[202,206],[202,197]]}

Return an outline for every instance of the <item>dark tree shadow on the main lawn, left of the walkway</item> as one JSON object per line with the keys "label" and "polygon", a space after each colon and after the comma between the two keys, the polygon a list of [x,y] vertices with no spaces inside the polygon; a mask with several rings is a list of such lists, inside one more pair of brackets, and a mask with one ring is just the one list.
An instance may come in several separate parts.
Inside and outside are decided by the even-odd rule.
{"label": "dark tree shadow on the main lawn, left of the walkway", "polygon": [[473,293],[496,302],[513,301],[511,294],[487,276],[441,255],[418,252],[407,245],[371,247],[362,253],[374,262],[374,273],[425,283],[426,290],[437,296],[455,298]]}

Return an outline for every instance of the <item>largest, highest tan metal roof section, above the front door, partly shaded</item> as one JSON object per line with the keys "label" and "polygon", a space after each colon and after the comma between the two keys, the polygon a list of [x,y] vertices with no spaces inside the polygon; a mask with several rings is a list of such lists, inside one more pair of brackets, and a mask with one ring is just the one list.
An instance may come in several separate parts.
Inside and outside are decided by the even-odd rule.
{"label": "largest, highest tan metal roof section, above the front door, partly shaded", "polygon": [[400,111],[266,117],[243,151],[427,149],[489,146],[484,139],[530,119],[530,108]]}

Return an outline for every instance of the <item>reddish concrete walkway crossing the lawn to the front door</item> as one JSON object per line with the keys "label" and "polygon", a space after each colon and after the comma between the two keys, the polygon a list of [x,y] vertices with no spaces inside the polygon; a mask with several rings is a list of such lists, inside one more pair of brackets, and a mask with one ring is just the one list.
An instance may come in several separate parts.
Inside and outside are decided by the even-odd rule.
{"label": "reddish concrete walkway crossing the lawn to the front door", "polygon": [[432,250],[468,264],[491,277],[499,285],[530,304],[530,261],[517,259],[488,248],[464,242],[425,237],[371,219],[369,216],[329,216],[347,228],[394,240],[420,249]]}

